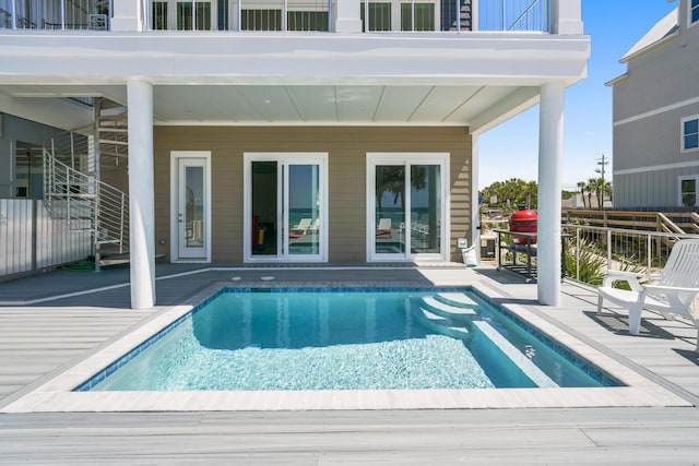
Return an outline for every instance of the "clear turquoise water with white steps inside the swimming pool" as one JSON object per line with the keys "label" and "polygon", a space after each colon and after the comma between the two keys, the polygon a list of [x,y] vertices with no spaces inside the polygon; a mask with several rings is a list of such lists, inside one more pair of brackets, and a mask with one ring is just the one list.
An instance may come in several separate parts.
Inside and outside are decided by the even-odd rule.
{"label": "clear turquoise water with white steps inside the swimming pool", "polygon": [[78,390],[614,384],[467,290],[252,291],[221,292]]}

